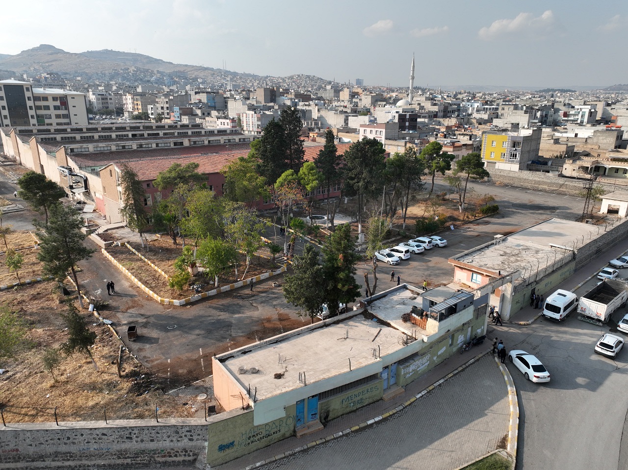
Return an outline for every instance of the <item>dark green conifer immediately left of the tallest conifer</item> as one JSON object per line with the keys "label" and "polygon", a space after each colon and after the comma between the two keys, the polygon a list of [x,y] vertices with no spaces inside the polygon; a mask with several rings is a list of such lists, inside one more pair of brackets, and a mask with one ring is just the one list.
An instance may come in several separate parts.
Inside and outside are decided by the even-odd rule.
{"label": "dark green conifer immediately left of the tallest conifer", "polygon": [[286,142],[279,121],[273,119],[266,124],[261,139],[255,142],[259,144],[251,152],[255,151],[254,156],[258,159],[256,170],[268,183],[277,181],[284,171],[291,169],[286,158]]}

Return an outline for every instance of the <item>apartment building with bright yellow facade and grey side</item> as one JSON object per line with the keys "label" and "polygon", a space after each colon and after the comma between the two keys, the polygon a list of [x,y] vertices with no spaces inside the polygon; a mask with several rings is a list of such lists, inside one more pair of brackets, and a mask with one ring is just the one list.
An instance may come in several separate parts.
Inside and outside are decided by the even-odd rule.
{"label": "apartment building with bright yellow facade and grey side", "polygon": [[482,136],[482,160],[485,168],[524,170],[529,161],[538,157],[541,129],[521,129],[519,132],[486,132]]}

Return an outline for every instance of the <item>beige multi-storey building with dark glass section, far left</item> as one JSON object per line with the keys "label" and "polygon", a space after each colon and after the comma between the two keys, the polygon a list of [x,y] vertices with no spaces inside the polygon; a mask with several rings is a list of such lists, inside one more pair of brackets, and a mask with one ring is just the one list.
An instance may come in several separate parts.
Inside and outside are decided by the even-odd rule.
{"label": "beige multi-storey building with dark glass section, far left", "polygon": [[0,126],[84,126],[87,95],[29,82],[0,81]]}

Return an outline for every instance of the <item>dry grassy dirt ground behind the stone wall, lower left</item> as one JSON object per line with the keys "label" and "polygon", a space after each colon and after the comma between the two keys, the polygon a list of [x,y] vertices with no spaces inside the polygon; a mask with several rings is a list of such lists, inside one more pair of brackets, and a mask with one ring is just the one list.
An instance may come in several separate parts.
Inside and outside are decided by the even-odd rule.
{"label": "dry grassy dirt ground behind the stone wall, lower left", "polygon": [[[67,307],[51,295],[55,282],[19,287],[3,296],[2,305],[18,312],[26,322],[28,341],[15,358],[3,360],[0,368],[0,402],[6,422],[51,422],[57,407],[59,421],[107,419],[152,419],[154,407],[160,417],[192,417],[195,413],[183,399],[163,395],[153,372],[137,363],[126,350],[122,354],[122,378],[114,363],[119,340],[89,312],[82,315],[98,335],[91,348],[99,366],[96,372],[89,356],[74,353],[63,357],[53,370],[57,380],[44,370],[41,357],[46,348],[58,348],[67,339],[60,312]],[[75,302],[78,307],[78,302]]]}

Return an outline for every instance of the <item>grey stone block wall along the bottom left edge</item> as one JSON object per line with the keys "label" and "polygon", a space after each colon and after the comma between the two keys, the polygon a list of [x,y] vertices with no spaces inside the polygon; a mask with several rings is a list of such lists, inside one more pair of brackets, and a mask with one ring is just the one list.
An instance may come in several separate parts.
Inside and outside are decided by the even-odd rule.
{"label": "grey stone block wall along the bottom left edge", "polygon": [[195,464],[207,448],[208,423],[172,421],[10,424],[0,428],[0,469]]}

